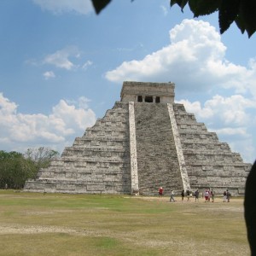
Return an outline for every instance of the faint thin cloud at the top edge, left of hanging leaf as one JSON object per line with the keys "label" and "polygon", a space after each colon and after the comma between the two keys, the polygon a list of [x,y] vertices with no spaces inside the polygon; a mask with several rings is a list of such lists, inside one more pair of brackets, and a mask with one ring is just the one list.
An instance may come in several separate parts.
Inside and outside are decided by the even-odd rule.
{"label": "faint thin cloud at the top edge, left of hanging leaf", "polygon": [[90,0],[32,0],[32,2],[38,4],[41,9],[48,10],[55,15],[71,11],[88,15],[93,11]]}

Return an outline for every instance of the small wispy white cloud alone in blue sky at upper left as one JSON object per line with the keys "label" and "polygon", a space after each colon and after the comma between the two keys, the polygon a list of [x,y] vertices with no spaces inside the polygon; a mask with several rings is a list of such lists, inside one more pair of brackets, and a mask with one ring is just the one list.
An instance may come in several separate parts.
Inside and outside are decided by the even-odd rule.
{"label": "small wispy white cloud alone in blue sky at upper left", "polygon": [[57,50],[51,55],[47,55],[44,58],[43,63],[71,70],[76,67],[76,65],[74,65],[73,62],[70,61],[70,58],[79,58],[79,56],[79,49],[77,49],[77,47],[75,46],[69,46],[64,49]]}

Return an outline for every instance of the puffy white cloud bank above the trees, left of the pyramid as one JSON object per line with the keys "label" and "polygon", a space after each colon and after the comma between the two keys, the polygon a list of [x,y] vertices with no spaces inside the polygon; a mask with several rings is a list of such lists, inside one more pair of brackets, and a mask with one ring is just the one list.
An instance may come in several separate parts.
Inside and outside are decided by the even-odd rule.
{"label": "puffy white cloud bank above the trees, left of the pyramid", "polygon": [[[82,102],[82,103],[81,103]],[[15,102],[0,94],[0,142],[3,148],[15,147],[26,150],[27,145],[57,147],[62,150],[66,143],[71,144],[74,134],[84,133],[85,128],[96,122],[95,113],[81,97],[74,104],[61,100],[45,115],[17,113]],[[24,145],[24,146],[23,146]],[[26,147],[26,148],[24,148]],[[11,150],[14,150],[11,148]]]}

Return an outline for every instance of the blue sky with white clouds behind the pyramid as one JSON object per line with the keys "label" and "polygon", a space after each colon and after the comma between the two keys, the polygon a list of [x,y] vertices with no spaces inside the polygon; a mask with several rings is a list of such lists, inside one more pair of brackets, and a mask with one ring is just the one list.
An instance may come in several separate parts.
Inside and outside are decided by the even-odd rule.
{"label": "blue sky with white clouds behind the pyramid", "polygon": [[60,153],[113,104],[125,80],[176,84],[176,102],[245,162],[256,155],[256,36],[169,0],[0,1],[0,150]]}

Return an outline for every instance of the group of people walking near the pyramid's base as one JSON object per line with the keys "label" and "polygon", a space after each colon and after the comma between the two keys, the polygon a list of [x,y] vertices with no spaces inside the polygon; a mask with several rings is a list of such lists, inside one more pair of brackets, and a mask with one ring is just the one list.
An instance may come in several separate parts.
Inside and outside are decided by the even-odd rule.
{"label": "group of people walking near the pyramid's base", "polygon": [[[162,196],[163,194],[164,194],[164,189],[162,187],[160,187],[159,195]],[[190,199],[192,197],[195,197],[195,201],[199,201],[199,195],[200,195],[199,189],[196,189],[195,192],[189,191],[189,189],[187,189],[185,192],[183,189],[181,192],[182,201],[184,201],[185,197],[187,198],[187,201],[190,201]],[[215,192],[213,191],[213,189],[206,189],[204,192],[202,192],[201,196],[202,196],[202,198],[205,199],[205,202],[210,202],[210,201],[214,202]],[[229,189],[225,190],[223,201],[230,202],[230,197],[231,197],[231,194],[230,194]],[[173,190],[171,190],[171,196],[170,196],[170,202],[172,202],[172,201],[176,201],[175,193]]]}

